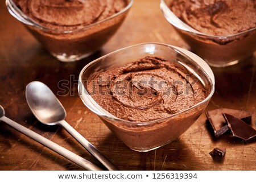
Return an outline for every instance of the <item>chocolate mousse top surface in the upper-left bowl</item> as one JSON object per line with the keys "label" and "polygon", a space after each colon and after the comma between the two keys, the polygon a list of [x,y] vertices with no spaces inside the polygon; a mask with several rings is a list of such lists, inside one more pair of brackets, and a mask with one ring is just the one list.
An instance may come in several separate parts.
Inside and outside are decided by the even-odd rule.
{"label": "chocolate mousse top surface in the upper-left bowl", "polygon": [[28,17],[57,30],[84,27],[118,13],[126,0],[15,0]]}

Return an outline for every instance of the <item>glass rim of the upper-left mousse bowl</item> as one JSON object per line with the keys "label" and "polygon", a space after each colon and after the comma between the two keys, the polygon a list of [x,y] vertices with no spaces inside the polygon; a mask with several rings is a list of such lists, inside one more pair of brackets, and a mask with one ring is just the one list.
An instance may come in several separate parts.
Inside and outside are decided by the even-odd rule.
{"label": "glass rim of the upper-left mousse bowl", "polygon": [[[76,31],[81,31],[81,30],[84,30],[86,28],[89,28],[89,27],[93,27],[93,26],[96,26],[97,24],[100,24],[100,23],[103,23],[103,22],[106,22],[110,19],[113,19],[123,13],[125,13],[126,11],[128,11],[130,9],[130,7],[133,5],[133,1],[134,0],[129,0],[129,3],[127,4],[127,6],[122,9],[121,11],[118,11],[117,13],[113,14],[112,16],[109,16],[108,18],[105,18],[105,19],[102,19],[98,22],[95,22],[95,23],[92,23],[92,24],[88,24],[84,27],[81,27],[81,28],[77,28],[77,29],[74,29],[74,30],[57,30],[57,29],[52,29],[52,28],[48,28],[46,26],[42,26],[40,23],[37,23],[35,22],[34,20],[32,20],[31,18],[29,18],[26,14],[23,13],[22,10],[20,10],[16,5],[15,3],[13,2],[13,0],[6,0],[5,3],[6,3],[6,6],[7,6],[7,9],[9,10],[9,13],[11,15],[13,15],[15,13],[15,15],[13,15],[16,19],[18,19],[20,22],[24,23],[24,24],[28,24],[29,26],[33,26],[33,27],[36,27],[36,28],[39,28],[39,29],[42,29],[44,31],[52,31],[52,32],[61,32],[61,33],[71,33],[71,32],[76,32]],[[10,12],[11,11],[11,12]],[[16,17],[18,16],[18,18]]]}

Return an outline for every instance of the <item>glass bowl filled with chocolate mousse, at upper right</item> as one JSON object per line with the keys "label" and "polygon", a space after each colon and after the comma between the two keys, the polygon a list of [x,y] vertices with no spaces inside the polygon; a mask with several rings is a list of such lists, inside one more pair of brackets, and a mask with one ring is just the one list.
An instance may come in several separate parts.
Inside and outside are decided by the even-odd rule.
{"label": "glass bowl filled with chocolate mousse, at upper right", "polygon": [[161,0],[160,9],[192,51],[213,67],[246,60],[256,50],[256,2]]}

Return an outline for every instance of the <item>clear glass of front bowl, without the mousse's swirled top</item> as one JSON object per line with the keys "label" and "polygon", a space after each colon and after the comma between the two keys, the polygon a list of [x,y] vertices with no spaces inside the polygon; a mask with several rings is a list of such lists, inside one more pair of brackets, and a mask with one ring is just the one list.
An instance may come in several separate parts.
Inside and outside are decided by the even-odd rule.
{"label": "clear glass of front bowl, without the mousse's swirled top", "polygon": [[[87,82],[96,73],[121,67],[145,56],[156,56],[175,62],[189,75],[195,76],[207,90],[205,100],[170,117],[149,122],[131,122],[110,114],[87,92]],[[175,140],[191,127],[212,97],[214,84],[214,75],[209,65],[194,53],[167,44],[144,43],[119,49],[86,65],[79,76],[79,94],[85,106],[96,113],[123,143],[135,151],[150,151]]]}

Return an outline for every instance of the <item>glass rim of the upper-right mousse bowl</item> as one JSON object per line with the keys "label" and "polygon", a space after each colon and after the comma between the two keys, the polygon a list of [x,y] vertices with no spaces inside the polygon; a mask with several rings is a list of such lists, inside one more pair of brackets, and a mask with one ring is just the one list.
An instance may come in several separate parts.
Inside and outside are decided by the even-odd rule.
{"label": "glass rim of the upper-right mousse bowl", "polygon": [[[168,7],[168,5],[166,4],[165,0],[160,0],[160,9],[162,10],[162,13],[164,14],[164,17],[167,19],[167,21],[169,23],[172,24],[172,26],[176,27],[177,29],[181,30],[181,31],[185,31],[185,32],[188,32],[189,34],[194,34],[194,35],[197,35],[197,36],[204,36],[205,38],[212,38],[212,39],[229,39],[229,38],[236,38],[237,36],[241,36],[243,34],[248,34],[250,32],[253,32],[254,30],[256,30],[256,27],[254,28],[251,28],[249,30],[246,30],[246,31],[242,31],[242,32],[239,32],[237,34],[229,34],[229,35],[209,35],[209,34],[204,34],[203,32],[200,32],[200,31],[197,31],[195,30],[194,28],[192,28],[191,26],[189,26],[187,23],[183,22],[181,19],[179,19],[171,10],[170,8]],[[171,18],[171,17],[166,17],[166,14],[165,14],[165,10],[168,11],[168,13],[172,13],[174,14],[174,17],[176,19],[179,19],[180,22],[186,24],[186,26],[190,29],[190,30],[184,30],[180,27],[177,27],[174,23],[172,23],[170,20],[168,20],[168,18]],[[173,18],[173,17],[172,17]]]}

